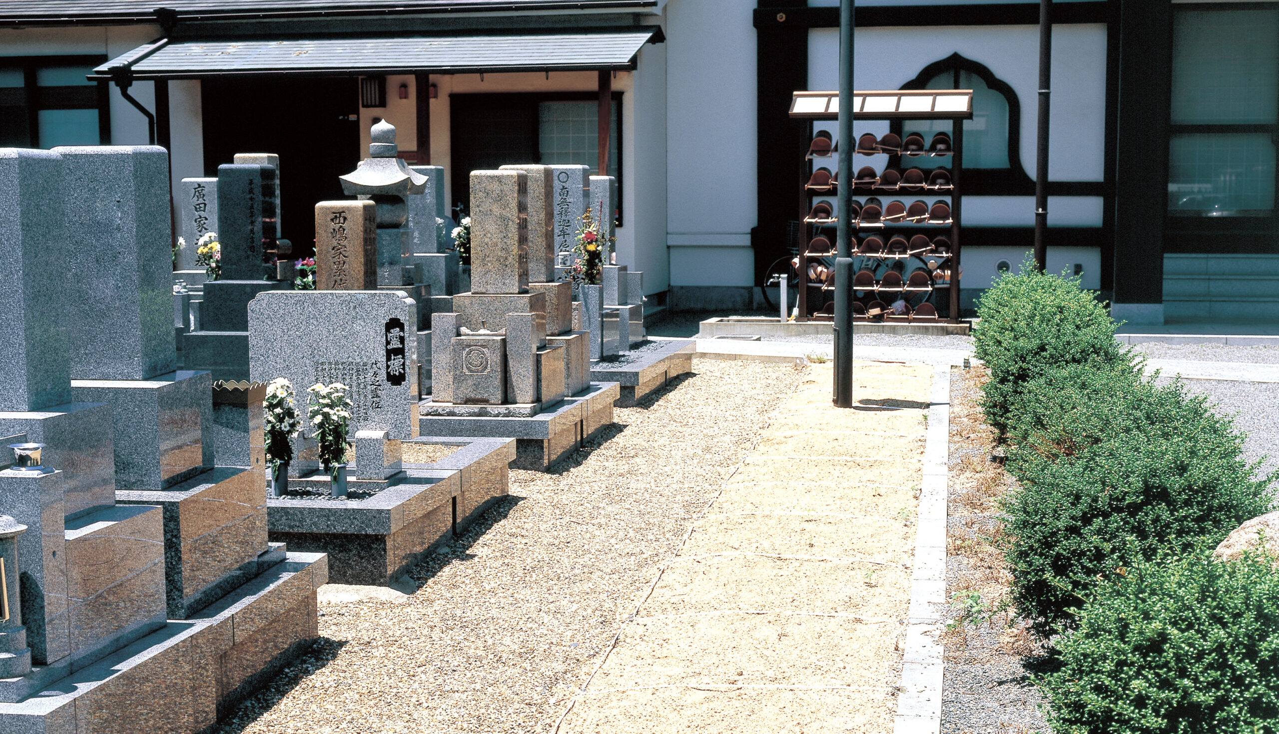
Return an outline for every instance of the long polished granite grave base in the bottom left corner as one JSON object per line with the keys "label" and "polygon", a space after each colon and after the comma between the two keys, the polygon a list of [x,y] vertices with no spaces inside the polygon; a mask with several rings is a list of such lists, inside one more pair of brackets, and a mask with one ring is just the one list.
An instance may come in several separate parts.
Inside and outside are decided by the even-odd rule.
{"label": "long polished granite grave base in the bottom left corner", "polygon": [[327,559],[265,555],[269,567],[191,619],[169,620],[24,701],[0,703],[0,731],[211,730],[318,637],[316,588],[327,581]]}

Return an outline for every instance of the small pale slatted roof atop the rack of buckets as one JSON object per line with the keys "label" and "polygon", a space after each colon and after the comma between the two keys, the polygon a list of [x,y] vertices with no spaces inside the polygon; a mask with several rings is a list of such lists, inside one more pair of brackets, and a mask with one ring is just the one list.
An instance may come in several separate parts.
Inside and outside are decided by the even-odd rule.
{"label": "small pale slatted roof atop the rack of buckets", "polygon": [[[893,89],[853,92],[858,120],[971,120],[972,89]],[[796,92],[790,116],[838,120],[839,92]]]}

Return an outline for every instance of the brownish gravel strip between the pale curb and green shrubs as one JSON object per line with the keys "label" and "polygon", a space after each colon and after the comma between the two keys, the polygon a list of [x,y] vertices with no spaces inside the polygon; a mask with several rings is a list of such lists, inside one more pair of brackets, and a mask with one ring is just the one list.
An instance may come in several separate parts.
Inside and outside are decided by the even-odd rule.
{"label": "brownish gravel strip between the pale curb and green shrubs", "polygon": [[[998,551],[976,537],[1000,526],[991,500],[1012,480],[989,460],[994,431],[975,403],[975,374],[950,373],[946,599],[977,591],[990,604],[1003,596],[1010,578]],[[948,622],[955,620],[957,611],[952,606]],[[945,633],[941,734],[1048,731],[1039,710],[1044,696],[1031,682],[1044,663],[1042,648],[1024,628],[1009,628],[1007,622],[998,615],[986,624],[959,624]]]}

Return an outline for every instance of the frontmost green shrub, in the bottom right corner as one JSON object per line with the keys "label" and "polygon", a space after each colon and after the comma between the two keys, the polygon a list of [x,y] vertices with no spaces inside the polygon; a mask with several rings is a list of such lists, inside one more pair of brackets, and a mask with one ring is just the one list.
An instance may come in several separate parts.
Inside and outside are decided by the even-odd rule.
{"label": "frontmost green shrub, in the bottom right corner", "polygon": [[1058,734],[1279,731],[1279,573],[1204,548],[1097,586],[1044,678]]}

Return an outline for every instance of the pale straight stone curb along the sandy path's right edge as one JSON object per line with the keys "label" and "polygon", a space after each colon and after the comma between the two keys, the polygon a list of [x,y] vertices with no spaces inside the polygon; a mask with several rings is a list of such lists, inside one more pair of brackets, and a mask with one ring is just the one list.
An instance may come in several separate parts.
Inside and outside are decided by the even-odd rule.
{"label": "pale straight stone curb along the sandy path's right edge", "polygon": [[946,601],[946,457],[950,443],[950,368],[934,366],[929,429],[914,536],[914,574],[894,734],[941,729],[941,617]]}

